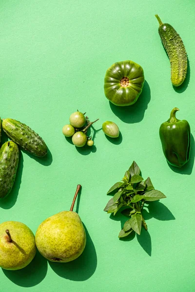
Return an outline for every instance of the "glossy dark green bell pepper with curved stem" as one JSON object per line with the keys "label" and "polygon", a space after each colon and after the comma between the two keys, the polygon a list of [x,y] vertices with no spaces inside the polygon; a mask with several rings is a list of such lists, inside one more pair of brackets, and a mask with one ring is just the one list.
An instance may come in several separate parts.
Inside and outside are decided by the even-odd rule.
{"label": "glossy dark green bell pepper with curved stem", "polygon": [[191,134],[188,122],[176,119],[177,110],[179,109],[174,108],[168,121],[162,123],[159,135],[168,163],[181,167],[190,157]]}

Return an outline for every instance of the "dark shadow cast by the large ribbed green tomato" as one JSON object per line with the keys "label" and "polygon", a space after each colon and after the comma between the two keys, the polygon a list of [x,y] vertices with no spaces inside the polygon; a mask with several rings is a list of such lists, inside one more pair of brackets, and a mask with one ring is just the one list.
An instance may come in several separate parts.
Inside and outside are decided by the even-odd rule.
{"label": "dark shadow cast by the large ribbed green tomato", "polygon": [[150,87],[148,82],[145,80],[142,92],[134,105],[118,107],[111,102],[109,103],[111,110],[119,119],[121,119],[121,121],[127,124],[134,124],[143,120],[145,110],[147,110],[150,100]]}

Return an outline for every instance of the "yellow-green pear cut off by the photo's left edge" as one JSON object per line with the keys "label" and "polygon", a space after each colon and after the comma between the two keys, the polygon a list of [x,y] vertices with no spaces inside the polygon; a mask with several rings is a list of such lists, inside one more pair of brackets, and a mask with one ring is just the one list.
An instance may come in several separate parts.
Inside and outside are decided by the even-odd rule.
{"label": "yellow-green pear cut off by the photo's left edge", "polygon": [[0,224],[1,268],[20,270],[32,261],[35,254],[35,237],[28,226],[17,221]]}

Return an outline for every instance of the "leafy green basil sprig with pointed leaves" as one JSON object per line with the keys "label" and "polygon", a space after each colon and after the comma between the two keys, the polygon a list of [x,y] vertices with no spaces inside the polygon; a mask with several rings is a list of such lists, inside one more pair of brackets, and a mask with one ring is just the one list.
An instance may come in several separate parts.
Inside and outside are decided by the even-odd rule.
{"label": "leafy green basil sprig with pointed leaves", "polygon": [[115,193],[115,195],[108,201],[104,211],[115,215],[121,207],[127,207],[121,213],[131,217],[124,223],[118,237],[126,237],[133,231],[140,235],[142,225],[148,230],[141,213],[144,204],[147,201],[166,198],[163,193],[155,190],[149,177],[144,181],[140,172],[139,166],[134,161],[125,172],[122,182],[115,183],[107,192],[107,195],[111,193]]}

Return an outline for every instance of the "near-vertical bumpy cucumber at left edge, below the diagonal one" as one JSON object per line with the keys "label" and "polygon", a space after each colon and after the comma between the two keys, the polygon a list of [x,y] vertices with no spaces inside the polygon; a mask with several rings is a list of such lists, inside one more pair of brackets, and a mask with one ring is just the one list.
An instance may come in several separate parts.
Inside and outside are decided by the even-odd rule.
{"label": "near-vertical bumpy cucumber at left edge, below the diagonal one", "polygon": [[12,141],[0,148],[0,199],[7,196],[14,184],[19,163],[19,148]]}

